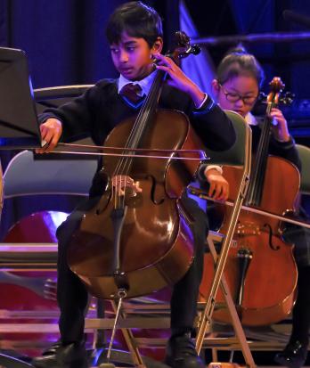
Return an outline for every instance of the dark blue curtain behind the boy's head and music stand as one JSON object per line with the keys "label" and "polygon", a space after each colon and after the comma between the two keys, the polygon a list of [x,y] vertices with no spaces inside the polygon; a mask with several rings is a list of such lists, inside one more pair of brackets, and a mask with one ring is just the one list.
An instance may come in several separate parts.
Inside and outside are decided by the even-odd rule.
{"label": "dark blue curtain behind the boy's head and music stand", "polygon": [[[0,0],[0,45],[28,53],[35,88],[116,76],[105,24],[121,0]],[[177,1],[146,1],[177,21]],[[156,4],[154,4],[156,3]],[[175,26],[177,28],[177,26]]]}

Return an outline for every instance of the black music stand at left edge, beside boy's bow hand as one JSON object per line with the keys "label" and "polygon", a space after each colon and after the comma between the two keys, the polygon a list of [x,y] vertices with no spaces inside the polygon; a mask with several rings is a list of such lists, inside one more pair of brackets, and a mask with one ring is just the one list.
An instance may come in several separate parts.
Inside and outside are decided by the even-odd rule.
{"label": "black music stand at left edge, beside boy's bow hand", "polygon": [[0,47],[0,150],[41,147],[26,53]]}

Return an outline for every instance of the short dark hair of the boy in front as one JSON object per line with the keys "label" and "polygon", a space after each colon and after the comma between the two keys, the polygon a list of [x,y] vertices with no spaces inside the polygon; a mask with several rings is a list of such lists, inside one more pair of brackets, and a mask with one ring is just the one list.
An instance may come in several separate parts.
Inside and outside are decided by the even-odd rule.
{"label": "short dark hair of the boy in front", "polygon": [[141,37],[150,45],[158,37],[163,37],[162,21],[151,6],[141,1],[122,4],[110,15],[106,36],[111,44],[118,44],[122,33],[131,37]]}

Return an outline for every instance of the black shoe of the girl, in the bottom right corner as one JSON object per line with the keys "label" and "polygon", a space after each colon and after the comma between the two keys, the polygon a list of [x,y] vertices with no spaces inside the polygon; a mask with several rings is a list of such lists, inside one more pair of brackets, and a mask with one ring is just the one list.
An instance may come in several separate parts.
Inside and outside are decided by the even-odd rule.
{"label": "black shoe of the girl, in the bottom right corner", "polygon": [[300,368],[306,362],[307,345],[299,341],[290,342],[281,353],[274,356],[274,362],[290,368]]}

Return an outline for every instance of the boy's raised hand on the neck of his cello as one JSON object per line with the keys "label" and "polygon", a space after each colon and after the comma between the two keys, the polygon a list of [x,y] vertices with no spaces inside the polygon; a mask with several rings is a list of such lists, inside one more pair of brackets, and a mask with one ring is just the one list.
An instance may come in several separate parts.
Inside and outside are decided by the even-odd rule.
{"label": "boy's raised hand on the neck of his cello", "polygon": [[156,68],[166,71],[171,78],[167,83],[184,91],[186,94],[190,94],[195,106],[200,106],[205,98],[205,94],[184,74],[183,70],[175,64],[175,61],[160,53],[155,53],[153,56],[159,61],[159,64],[156,64]]}

